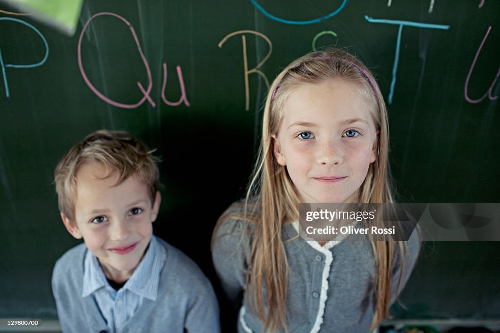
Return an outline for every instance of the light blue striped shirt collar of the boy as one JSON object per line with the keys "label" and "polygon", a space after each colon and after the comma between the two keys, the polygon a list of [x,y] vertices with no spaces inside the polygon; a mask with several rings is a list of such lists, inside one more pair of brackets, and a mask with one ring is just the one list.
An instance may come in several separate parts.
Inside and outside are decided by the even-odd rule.
{"label": "light blue striped shirt collar of the boy", "polygon": [[[123,285],[141,297],[156,300],[158,293],[159,275],[166,259],[166,252],[153,235],[144,257],[137,268]],[[90,251],[87,250],[84,259],[82,297],[86,297],[97,289],[109,285],[100,264]]]}

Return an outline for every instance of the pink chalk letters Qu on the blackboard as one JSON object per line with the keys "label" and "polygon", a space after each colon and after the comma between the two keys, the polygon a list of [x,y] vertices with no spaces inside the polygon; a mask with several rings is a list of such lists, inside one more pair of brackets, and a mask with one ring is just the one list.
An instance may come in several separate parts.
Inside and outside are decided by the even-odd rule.
{"label": "pink chalk letters Qu on the blackboard", "polygon": [[[144,64],[144,67],[145,67],[146,72],[147,72],[148,85],[147,85],[147,89],[144,89],[144,87],[142,86],[142,83],[140,83],[139,81],[137,81],[137,86],[138,86],[139,90],[142,92],[143,97],[138,102],[136,102],[135,104],[120,103],[120,102],[114,101],[114,100],[112,100],[112,99],[104,96],[104,94],[102,94],[99,90],[97,90],[97,88],[95,88],[95,86],[90,82],[90,80],[88,79],[87,75],[85,74],[85,70],[83,69],[83,63],[82,63],[82,60],[81,60],[81,40],[83,38],[83,34],[85,33],[85,30],[88,27],[88,24],[90,23],[90,21],[92,19],[94,19],[95,17],[100,16],[100,15],[114,16],[114,17],[120,19],[121,21],[123,21],[128,26],[128,28],[130,29],[130,33],[132,34],[132,37],[133,37],[133,39],[135,41],[135,44],[137,46],[137,50],[138,50],[138,52],[140,54],[140,57],[142,59],[142,63]],[[81,76],[83,77],[83,80],[88,85],[88,87],[90,88],[90,90],[92,90],[92,92],[95,93],[100,99],[104,100],[105,102],[107,102],[107,103],[109,103],[111,105],[114,105],[114,106],[117,106],[117,107],[122,107],[122,108],[135,108],[135,107],[138,107],[139,105],[141,105],[146,100],[151,104],[151,106],[153,106],[153,107],[156,106],[156,104],[154,103],[154,101],[149,96],[149,93],[151,92],[151,88],[152,88],[151,69],[149,68],[149,64],[147,63],[146,57],[144,56],[144,53],[142,52],[142,48],[140,46],[139,39],[137,38],[137,34],[135,33],[135,30],[134,30],[133,26],[124,17],[122,17],[122,16],[120,16],[118,14],[112,13],[112,12],[99,12],[99,13],[96,13],[96,14],[92,15],[86,21],[85,25],[83,26],[83,29],[81,30],[80,37],[78,39],[77,55],[78,55],[78,67],[80,68],[80,72],[81,72]],[[162,85],[162,88],[161,88],[161,98],[168,105],[176,106],[176,105],[179,105],[180,103],[184,102],[184,104],[186,106],[189,106],[190,104],[187,101],[187,97],[186,97],[186,93],[185,93],[185,88],[184,88],[184,79],[182,77],[182,70],[181,70],[180,66],[177,66],[176,68],[177,68],[177,74],[178,74],[178,78],[179,78],[179,85],[180,85],[180,90],[181,90],[181,96],[180,96],[180,98],[179,98],[179,100],[177,102],[170,102],[170,101],[168,101],[166,99],[166,97],[165,97],[166,63],[163,63],[163,85]]]}

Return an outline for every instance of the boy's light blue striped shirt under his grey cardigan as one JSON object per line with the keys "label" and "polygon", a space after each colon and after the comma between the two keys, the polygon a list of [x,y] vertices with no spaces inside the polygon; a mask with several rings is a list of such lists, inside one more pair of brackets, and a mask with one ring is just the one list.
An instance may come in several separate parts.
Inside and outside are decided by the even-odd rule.
{"label": "boy's light blue striped shirt under his grey cardigan", "polygon": [[95,255],[87,251],[84,259],[82,297],[90,294],[107,322],[109,332],[120,333],[142,304],[144,297],[154,301],[158,293],[159,274],[166,252],[153,235],[137,268],[118,290],[107,282]]}

